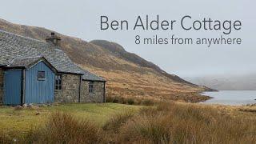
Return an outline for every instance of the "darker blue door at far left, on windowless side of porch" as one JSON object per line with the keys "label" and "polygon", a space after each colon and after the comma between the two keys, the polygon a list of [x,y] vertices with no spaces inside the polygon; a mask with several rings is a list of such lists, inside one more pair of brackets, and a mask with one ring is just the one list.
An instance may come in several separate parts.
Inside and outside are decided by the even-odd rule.
{"label": "darker blue door at far left, on windowless side of porch", "polygon": [[4,103],[20,105],[22,91],[22,70],[7,70],[4,75]]}

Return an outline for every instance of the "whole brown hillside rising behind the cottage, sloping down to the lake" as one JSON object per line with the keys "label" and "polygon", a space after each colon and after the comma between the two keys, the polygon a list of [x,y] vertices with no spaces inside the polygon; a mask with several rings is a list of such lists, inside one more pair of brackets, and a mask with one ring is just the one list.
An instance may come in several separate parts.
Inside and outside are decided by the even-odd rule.
{"label": "whole brown hillside rising behind the cottage, sloping down to the lake", "polygon": [[[18,25],[1,19],[0,30],[42,41],[52,32],[45,28]],[[58,35],[62,38],[62,50],[75,63],[106,78],[107,95],[195,102],[201,99],[195,92],[208,90],[176,75],[167,74],[154,63],[127,52],[117,43],[103,40],[86,42],[80,38]]]}

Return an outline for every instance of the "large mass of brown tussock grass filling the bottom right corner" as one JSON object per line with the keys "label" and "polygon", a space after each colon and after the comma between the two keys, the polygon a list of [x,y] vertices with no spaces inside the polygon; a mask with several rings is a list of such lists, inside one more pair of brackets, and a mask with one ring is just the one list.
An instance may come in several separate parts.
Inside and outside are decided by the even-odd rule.
{"label": "large mass of brown tussock grass filling the bottom right corner", "polygon": [[116,142],[254,143],[255,124],[256,119],[219,114],[209,106],[162,103],[130,118]]}

